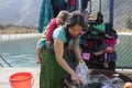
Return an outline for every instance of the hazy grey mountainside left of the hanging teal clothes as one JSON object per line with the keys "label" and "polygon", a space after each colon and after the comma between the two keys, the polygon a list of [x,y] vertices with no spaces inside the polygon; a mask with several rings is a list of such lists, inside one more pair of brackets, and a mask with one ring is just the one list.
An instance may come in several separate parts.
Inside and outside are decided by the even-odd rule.
{"label": "hazy grey mountainside left of the hanging teal clothes", "polygon": [[0,24],[37,25],[42,0],[0,0]]}

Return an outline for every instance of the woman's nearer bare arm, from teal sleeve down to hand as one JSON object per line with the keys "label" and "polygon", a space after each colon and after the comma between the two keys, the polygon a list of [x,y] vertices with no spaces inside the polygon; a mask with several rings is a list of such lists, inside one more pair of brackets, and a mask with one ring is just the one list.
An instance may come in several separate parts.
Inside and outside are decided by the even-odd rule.
{"label": "woman's nearer bare arm, from teal sleeve down to hand", "polygon": [[63,67],[77,84],[80,84],[80,79],[77,74],[69,67],[69,65],[64,59],[64,43],[57,38],[54,40],[54,48],[55,48],[55,56],[56,62]]}

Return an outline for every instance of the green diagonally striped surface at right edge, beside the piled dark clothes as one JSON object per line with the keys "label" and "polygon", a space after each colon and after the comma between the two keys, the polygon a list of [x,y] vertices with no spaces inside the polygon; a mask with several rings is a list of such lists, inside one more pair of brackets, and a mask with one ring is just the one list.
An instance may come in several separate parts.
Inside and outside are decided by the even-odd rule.
{"label": "green diagonally striped surface at right edge, beside the piled dark clothes", "polygon": [[118,68],[132,68],[132,33],[119,33],[120,43],[116,45]]}

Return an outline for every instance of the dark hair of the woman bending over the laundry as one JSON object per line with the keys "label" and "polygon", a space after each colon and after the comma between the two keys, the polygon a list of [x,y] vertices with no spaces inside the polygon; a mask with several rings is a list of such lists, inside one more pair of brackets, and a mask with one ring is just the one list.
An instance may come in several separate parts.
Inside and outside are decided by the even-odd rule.
{"label": "dark hair of the woman bending over the laundry", "polygon": [[72,28],[76,24],[80,26],[84,26],[85,24],[84,15],[79,11],[73,11],[70,13],[69,18],[66,21],[66,28]]}

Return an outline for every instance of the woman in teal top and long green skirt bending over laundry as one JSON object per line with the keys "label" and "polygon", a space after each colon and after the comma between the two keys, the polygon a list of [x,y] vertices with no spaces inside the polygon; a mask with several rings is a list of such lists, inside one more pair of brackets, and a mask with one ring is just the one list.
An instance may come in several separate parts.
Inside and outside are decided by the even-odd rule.
{"label": "woman in teal top and long green skirt bending over laundry", "polygon": [[63,88],[66,73],[72,76],[76,84],[80,85],[81,80],[68,65],[66,58],[68,57],[67,52],[73,50],[78,62],[84,63],[78,46],[82,26],[82,14],[74,11],[67,19],[65,26],[61,26],[53,32],[54,51],[50,51],[52,47],[45,41],[45,47],[42,52],[40,88]]}

